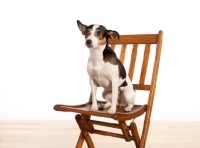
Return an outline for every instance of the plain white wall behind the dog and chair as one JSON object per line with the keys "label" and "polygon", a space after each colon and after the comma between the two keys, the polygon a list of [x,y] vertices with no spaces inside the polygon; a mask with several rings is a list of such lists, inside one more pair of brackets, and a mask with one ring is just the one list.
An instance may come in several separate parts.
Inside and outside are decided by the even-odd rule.
{"label": "plain white wall behind the dog and chair", "polygon": [[88,100],[89,52],[77,19],[120,34],[163,30],[152,119],[200,121],[197,0],[0,1],[0,120],[73,119],[53,106]]}

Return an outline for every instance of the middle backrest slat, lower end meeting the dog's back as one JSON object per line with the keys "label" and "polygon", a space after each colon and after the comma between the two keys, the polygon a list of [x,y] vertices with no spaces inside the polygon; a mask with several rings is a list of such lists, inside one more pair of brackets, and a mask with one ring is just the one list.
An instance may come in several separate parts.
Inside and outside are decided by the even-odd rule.
{"label": "middle backrest slat, lower end meeting the dog's back", "polygon": [[131,79],[131,81],[133,79],[133,73],[134,73],[134,69],[135,69],[137,49],[138,49],[138,44],[134,44],[133,49],[132,49],[132,53],[131,53],[131,61],[130,61],[129,72],[128,72],[128,76]]}

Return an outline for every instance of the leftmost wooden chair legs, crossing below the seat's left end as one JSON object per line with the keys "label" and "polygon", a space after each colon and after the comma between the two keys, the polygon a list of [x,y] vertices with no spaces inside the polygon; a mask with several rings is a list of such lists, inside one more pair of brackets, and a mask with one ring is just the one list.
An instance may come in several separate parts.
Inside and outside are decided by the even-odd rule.
{"label": "leftmost wooden chair legs, crossing below the seat's left end", "polygon": [[83,142],[82,138],[84,138],[84,140],[86,141],[86,143],[88,145],[88,148],[94,148],[94,143],[92,142],[92,139],[91,139],[89,133],[85,129],[84,125],[81,124],[81,120],[83,120],[81,115],[77,114],[75,116],[75,119],[76,119],[76,122],[77,122],[80,130],[81,130],[81,135],[82,135],[81,137],[79,136],[80,141],[78,140],[77,145],[80,145],[82,147],[81,142]]}

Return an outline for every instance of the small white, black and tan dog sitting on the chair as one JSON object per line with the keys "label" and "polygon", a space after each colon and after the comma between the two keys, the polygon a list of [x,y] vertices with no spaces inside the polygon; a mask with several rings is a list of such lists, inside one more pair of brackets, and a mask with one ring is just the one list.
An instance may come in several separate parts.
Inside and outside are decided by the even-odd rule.
{"label": "small white, black and tan dog sitting on the chair", "polygon": [[[77,20],[78,28],[85,36],[85,45],[89,48],[90,56],[87,72],[92,92],[92,111],[110,107],[108,113],[114,114],[116,107],[125,107],[124,111],[131,111],[135,103],[135,90],[126,70],[115,52],[108,45],[108,39],[120,38],[117,31],[107,30],[102,25],[86,26]],[[97,87],[104,88],[104,105],[97,105]]]}

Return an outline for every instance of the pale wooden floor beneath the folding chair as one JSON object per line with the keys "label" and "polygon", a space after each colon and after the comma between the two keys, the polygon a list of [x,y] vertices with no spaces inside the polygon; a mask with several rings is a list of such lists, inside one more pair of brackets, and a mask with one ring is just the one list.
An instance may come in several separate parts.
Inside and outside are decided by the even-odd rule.
{"label": "pale wooden floor beneath the folding chair", "polygon": [[[136,123],[141,131],[142,122]],[[0,121],[0,148],[74,148],[78,136],[75,121]],[[135,148],[123,139],[91,136],[96,148]],[[200,148],[200,122],[152,121],[146,148]]]}

